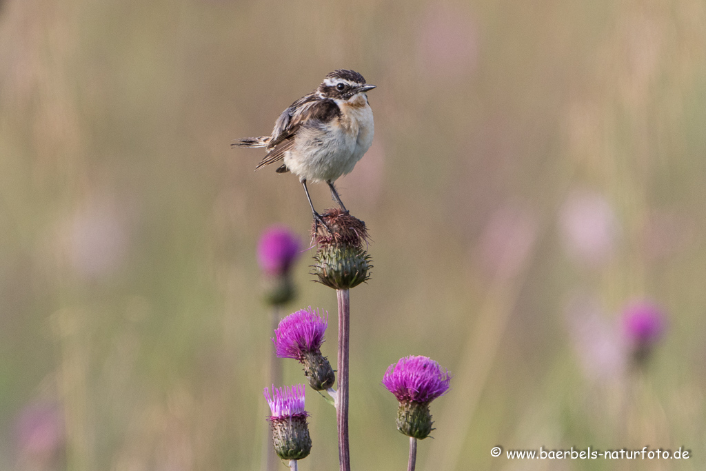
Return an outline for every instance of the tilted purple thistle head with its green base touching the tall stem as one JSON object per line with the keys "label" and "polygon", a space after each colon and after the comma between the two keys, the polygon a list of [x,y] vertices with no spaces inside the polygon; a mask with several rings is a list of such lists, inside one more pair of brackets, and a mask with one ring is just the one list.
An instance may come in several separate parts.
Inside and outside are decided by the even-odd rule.
{"label": "tilted purple thistle head with its green base touching the tall stem", "polygon": [[272,339],[277,357],[294,358],[304,365],[304,374],[314,390],[326,390],[336,381],[331,364],[321,354],[327,326],[328,314],[322,318],[309,306],[283,318]]}

